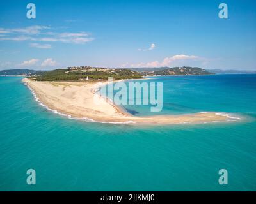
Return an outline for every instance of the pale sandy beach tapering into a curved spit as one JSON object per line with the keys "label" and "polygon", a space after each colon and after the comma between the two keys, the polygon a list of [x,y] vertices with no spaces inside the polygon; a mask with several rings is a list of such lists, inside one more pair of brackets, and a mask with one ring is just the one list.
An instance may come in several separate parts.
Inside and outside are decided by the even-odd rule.
{"label": "pale sandy beach tapering into a curved spit", "polygon": [[35,92],[40,102],[48,108],[77,119],[88,119],[95,122],[138,124],[206,123],[238,119],[216,112],[135,117],[95,93],[97,88],[104,83],[38,82],[28,78],[24,78],[22,82],[26,83]]}

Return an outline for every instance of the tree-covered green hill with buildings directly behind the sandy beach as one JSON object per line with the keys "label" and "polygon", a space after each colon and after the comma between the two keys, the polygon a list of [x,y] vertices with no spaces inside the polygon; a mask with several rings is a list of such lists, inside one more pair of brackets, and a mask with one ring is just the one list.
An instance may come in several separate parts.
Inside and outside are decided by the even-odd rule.
{"label": "tree-covered green hill with buildings directly behind the sandy beach", "polygon": [[137,71],[129,69],[93,68],[90,66],[68,67],[41,73],[35,78],[38,81],[73,81],[73,80],[108,80],[108,77],[118,79],[143,78]]}

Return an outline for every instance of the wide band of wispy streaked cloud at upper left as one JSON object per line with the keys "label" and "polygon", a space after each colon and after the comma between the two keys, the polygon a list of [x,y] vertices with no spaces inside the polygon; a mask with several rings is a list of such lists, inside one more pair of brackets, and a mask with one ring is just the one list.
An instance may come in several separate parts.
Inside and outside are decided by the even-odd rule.
{"label": "wide band of wispy streaked cloud at upper left", "polygon": [[5,35],[0,36],[1,41],[44,41],[85,44],[94,40],[90,33],[84,31],[78,33],[56,33],[51,31],[51,27],[39,25],[17,29],[0,28],[0,33]]}

